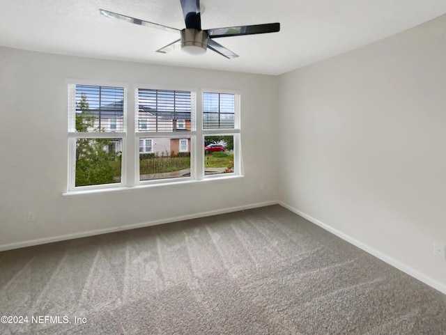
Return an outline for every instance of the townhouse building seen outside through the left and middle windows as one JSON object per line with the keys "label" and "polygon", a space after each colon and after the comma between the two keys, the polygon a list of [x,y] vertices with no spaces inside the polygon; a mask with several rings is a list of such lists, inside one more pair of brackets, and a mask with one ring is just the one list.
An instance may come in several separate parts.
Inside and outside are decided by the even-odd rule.
{"label": "townhouse building seen outside through the left and middle windows", "polygon": [[[90,109],[94,116],[93,127],[89,131],[105,130],[106,132],[123,131],[123,101],[107,104],[97,109]],[[80,111],[77,111],[80,112]],[[151,107],[139,106],[137,128],[139,132],[186,132],[191,130],[190,112],[157,111]],[[113,148],[112,148],[113,147]],[[122,150],[121,141],[112,141],[109,150]],[[154,153],[157,156],[190,153],[190,138],[141,137],[139,153]]]}

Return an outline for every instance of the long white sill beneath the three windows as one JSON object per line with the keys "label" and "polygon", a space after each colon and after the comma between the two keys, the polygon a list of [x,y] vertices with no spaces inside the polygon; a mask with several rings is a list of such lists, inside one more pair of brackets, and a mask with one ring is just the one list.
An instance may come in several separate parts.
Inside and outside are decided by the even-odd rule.
{"label": "long white sill beneath the three windows", "polygon": [[231,180],[239,180],[244,178],[243,175],[237,176],[218,176],[213,178],[204,178],[202,180],[183,180],[183,181],[174,181],[174,182],[158,182],[153,184],[144,184],[144,185],[134,185],[128,187],[107,187],[101,189],[82,189],[79,191],[70,191],[63,193],[63,197],[73,197],[73,196],[91,196],[95,194],[107,194],[107,193],[125,193],[125,192],[134,192],[144,189],[152,189],[152,188],[168,188],[168,187],[178,187],[178,186],[193,186],[193,185],[204,185],[208,183],[214,182],[227,182]]}

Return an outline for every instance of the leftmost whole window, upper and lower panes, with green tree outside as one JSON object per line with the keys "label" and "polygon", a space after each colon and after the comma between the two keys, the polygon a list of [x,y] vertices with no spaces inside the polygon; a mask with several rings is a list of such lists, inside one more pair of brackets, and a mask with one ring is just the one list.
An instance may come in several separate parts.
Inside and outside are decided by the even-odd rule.
{"label": "leftmost whole window, upper and lower panes, with green tree outside", "polygon": [[120,185],[124,87],[69,85],[69,185]]}

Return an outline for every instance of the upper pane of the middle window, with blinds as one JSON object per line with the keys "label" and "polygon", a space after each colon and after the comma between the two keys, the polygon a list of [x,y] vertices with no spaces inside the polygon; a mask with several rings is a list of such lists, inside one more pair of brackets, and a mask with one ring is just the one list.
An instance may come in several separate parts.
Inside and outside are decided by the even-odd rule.
{"label": "upper pane of the middle window, with blinds", "polygon": [[187,91],[138,90],[139,131],[191,130],[191,93]]}

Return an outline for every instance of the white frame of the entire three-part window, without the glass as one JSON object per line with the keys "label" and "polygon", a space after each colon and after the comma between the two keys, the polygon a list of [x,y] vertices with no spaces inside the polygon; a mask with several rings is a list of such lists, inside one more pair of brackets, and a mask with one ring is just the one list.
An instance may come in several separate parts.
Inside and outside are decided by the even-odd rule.
{"label": "white frame of the entire three-part window, without the glass", "polygon": [[[110,191],[117,189],[126,189],[128,187],[144,187],[155,185],[176,185],[184,182],[200,182],[201,180],[217,180],[225,178],[243,177],[242,153],[240,146],[240,92],[229,91],[215,88],[191,88],[162,85],[128,84],[123,82],[110,81],[88,81],[78,79],[67,79],[68,84],[68,187],[64,195],[84,194],[86,192],[100,192],[101,189]],[[123,104],[123,132],[76,132],[75,131],[75,101],[76,85],[92,86],[116,86],[124,89]],[[178,139],[178,132],[148,132],[139,130],[138,119],[138,90],[139,88],[169,90],[169,91],[190,91],[192,98],[192,113],[190,130],[183,133],[183,138],[187,141],[187,152],[190,152],[190,177],[157,179],[157,180],[139,180],[139,139],[151,139],[152,151],[154,152],[154,143],[157,138]],[[235,113],[233,129],[208,129],[203,130],[203,93],[229,93],[235,95]],[[128,113],[131,110],[131,113]],[[180,120],[177,120],[180,121]],[[204,169],[204,138],[210,135],[231,135],[234,137],[234,165],[233,173],[222,173],[217,175],[205,176]],[[107,185],[90,185],[75,187],[75,155],[76,139],[121,139],[121,182]],[[144,143],[145,144],[145,143]],[[179,144],[178,151],[183,152]],[[145,147],[144,147],[145,148]],[[144,149],[146,150],[146,149]],[[144,151],[144,153],[149,153]],[[142,153],[141,153],[142,154]]]}

